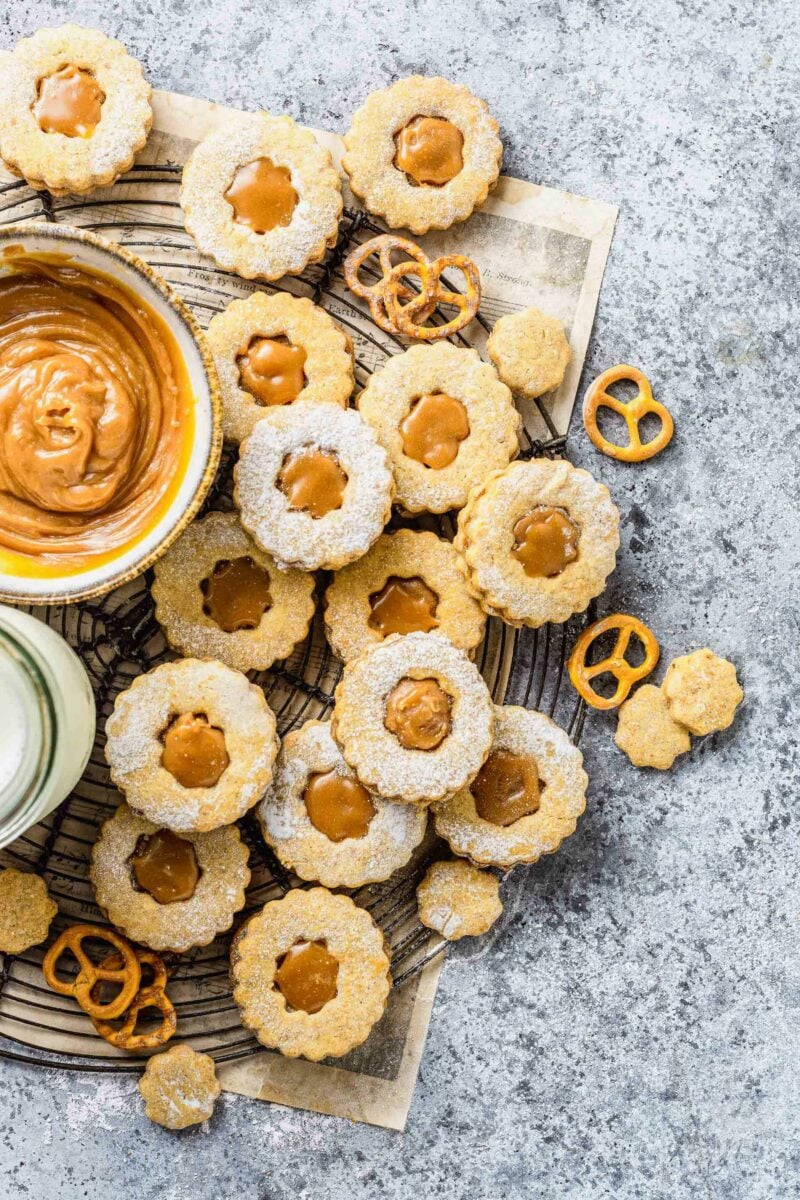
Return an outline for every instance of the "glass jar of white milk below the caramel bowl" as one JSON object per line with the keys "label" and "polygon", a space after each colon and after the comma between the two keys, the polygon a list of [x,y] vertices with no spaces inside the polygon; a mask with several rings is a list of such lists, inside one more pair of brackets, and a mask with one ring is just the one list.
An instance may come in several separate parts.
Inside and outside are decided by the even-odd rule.
{"label": "glass jar of white milk below the caramel bowl", "polygon": [[66,799],[95,743],[95,697],[60,634],[0,605],[0,847]]}

